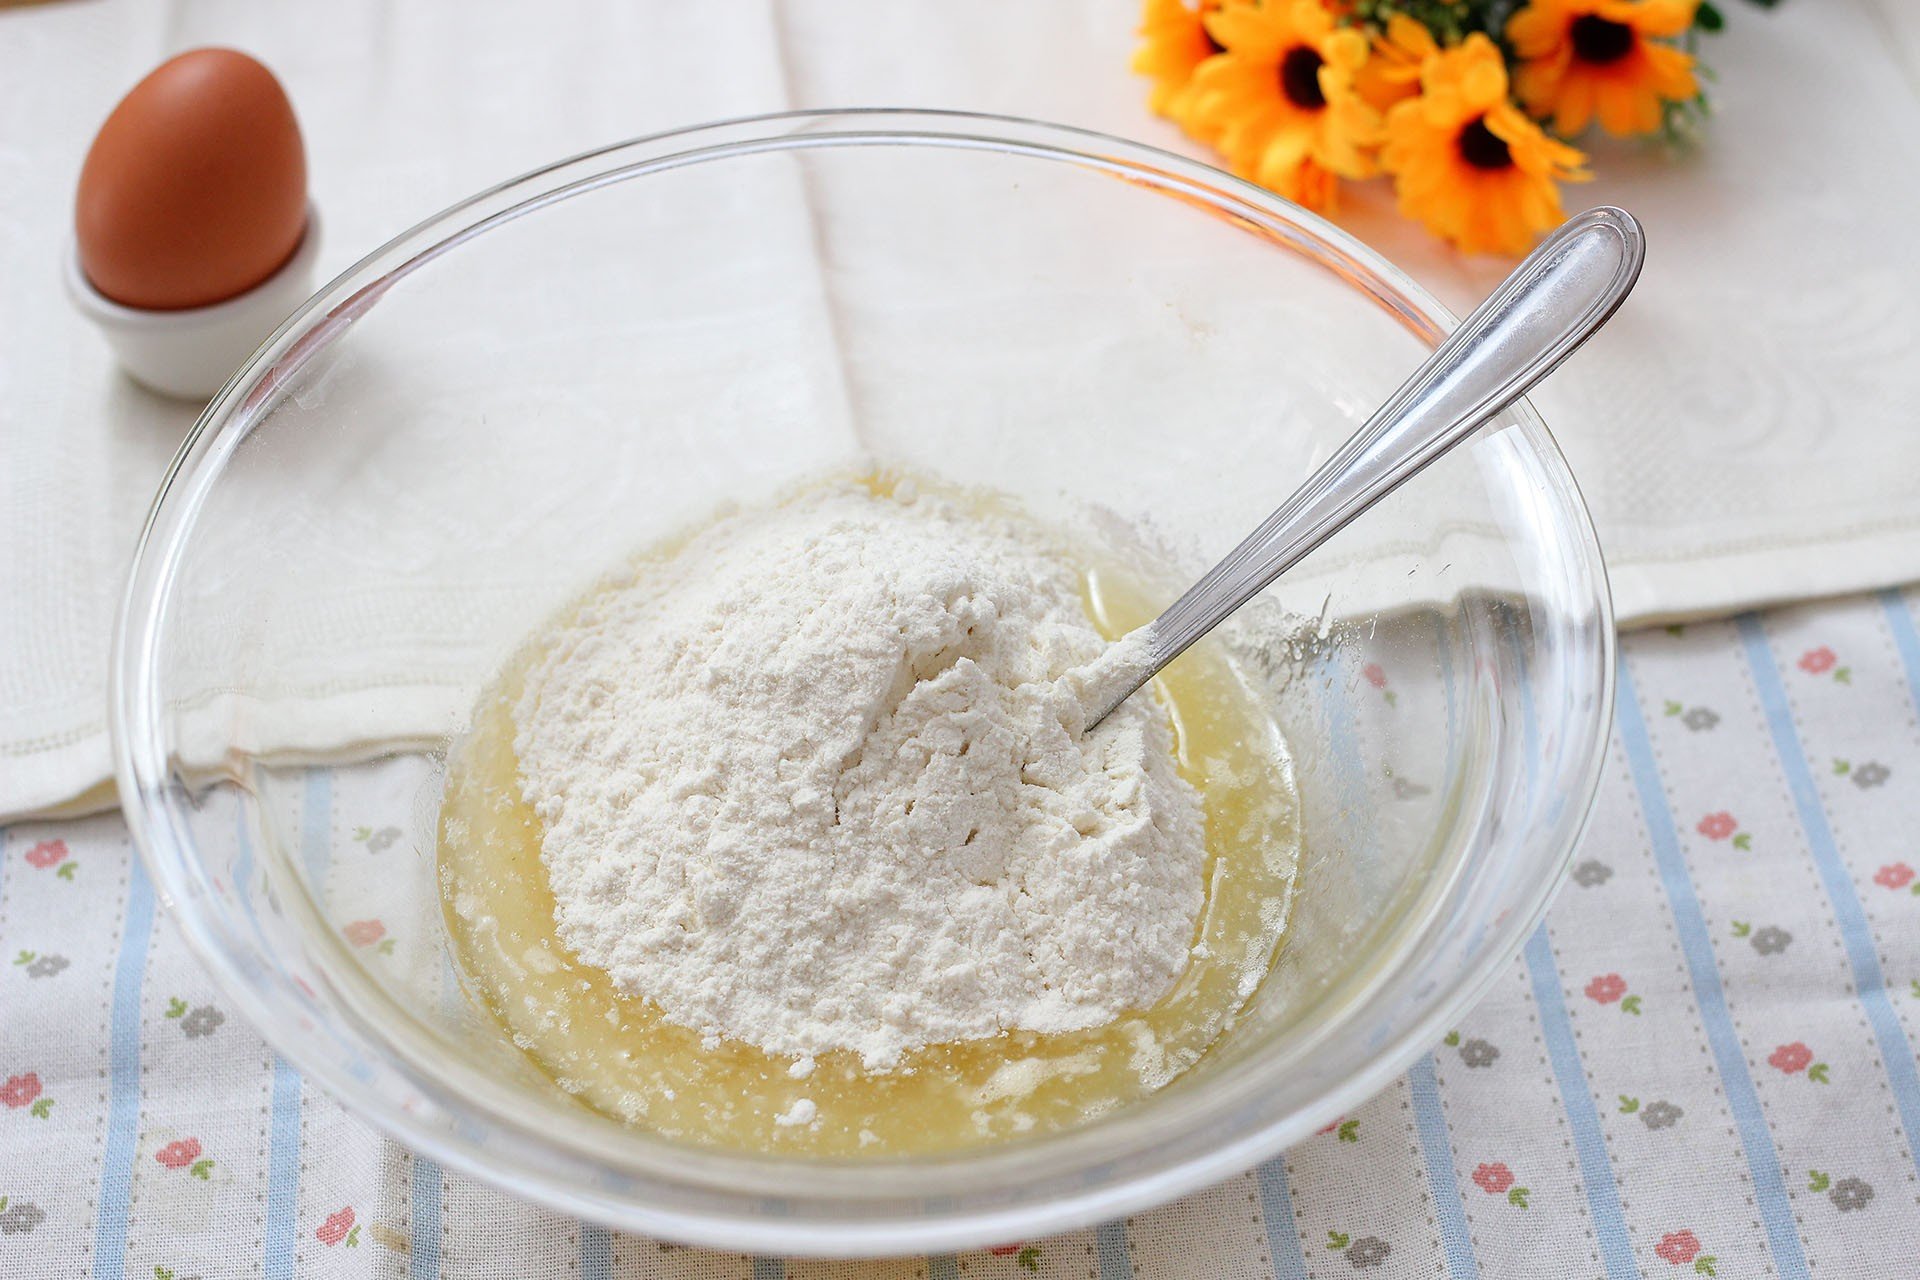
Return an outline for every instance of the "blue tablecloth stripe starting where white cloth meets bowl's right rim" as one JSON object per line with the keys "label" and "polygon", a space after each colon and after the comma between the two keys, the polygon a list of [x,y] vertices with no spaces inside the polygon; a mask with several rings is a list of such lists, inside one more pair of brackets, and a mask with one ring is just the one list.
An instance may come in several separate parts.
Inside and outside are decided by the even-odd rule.
{"label": "blue tablecloth stripe starting where white cloth meets bowl's right rim", "polygon": [[1734,1115],[1740,1146],[1747,1153],[1747,1173],[1753,1176],[1753,1205],[1759,1209],[1761,1224],[1766,1228],[1766,1244],[1774,1255],[1774,1268],[1782,1280],[1801,1280],[1807,1274],[1807,1253],[1793,1224],[1793,1209],[1788,1201],[1786,1178],[1780,1173],[1774,1136],[1766,1128],[1761,1096],[1753,1088],[1753,1073],[1747,1071],[1747,1055],[1740,1048],[1740,1032],[1734,1031],[1734,1015],[1726,1006],[1726,988],[1720,984],[1720,967],[1715,961],[1713,940],[1707,933],[1707,915],[1699,908],[1699,896],[1693,892],[1693,877],[1688,871],[1686,856],[1680,852],[1680,829],[1674,823],[1672,808],[1667,804],[1661,771],[1653,760],[1653,739],[1647,737],[1647,722],[1640,714],[1640,695],[1634,689],[1634,674],[1626,666],[1624,652],[1617,666],[1615,731],[1620,735],[1620,747],[1626,748],[1626,768],[1634,777],[1634,791],[1640,796],[1640,814],[1645,819],[1647,842],[1653,848],[1653,865],[1659,869],[1661,887],[1667,890],[1667,906],[1674,917],[1674,936],[1680,942],[1680,956],[1686,960],[1688,979],[1693,983],[1693,1004],[1707,1032],[1707,1046],[1713,1050],[1713,1061],[1720,1069],[1726,1109]]}

